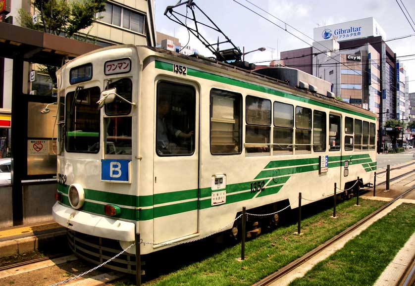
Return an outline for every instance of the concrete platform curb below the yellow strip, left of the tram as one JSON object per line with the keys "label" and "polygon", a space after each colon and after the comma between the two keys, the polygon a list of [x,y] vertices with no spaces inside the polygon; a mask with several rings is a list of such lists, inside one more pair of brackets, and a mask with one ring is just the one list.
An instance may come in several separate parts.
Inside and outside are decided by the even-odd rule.
{"label": "concrete platform curb below the yellow strip, left of the tram", "polygon": [[27,238],[16,238],[0,242],[0,257],[6,257],[15,254],[32,252],[49,243],[66,238],[66,230],[32,236]]}

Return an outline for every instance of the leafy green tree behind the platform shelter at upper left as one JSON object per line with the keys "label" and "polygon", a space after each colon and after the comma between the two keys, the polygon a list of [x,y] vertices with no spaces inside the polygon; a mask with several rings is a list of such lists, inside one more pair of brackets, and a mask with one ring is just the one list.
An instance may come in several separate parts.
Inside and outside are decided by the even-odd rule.
{"label": "leafy green tree behind the platform shelter at upper left", "polygon": [[[33,23],[30,12],[19,9],[20,24],[66,38],[73,38],[79,30],[91,26],[97,19],[96,14],[105,10],[105,0],[33,0],[31,3],[40,19]],[[45,71],[55,86],[56,67],[46,66]]]}

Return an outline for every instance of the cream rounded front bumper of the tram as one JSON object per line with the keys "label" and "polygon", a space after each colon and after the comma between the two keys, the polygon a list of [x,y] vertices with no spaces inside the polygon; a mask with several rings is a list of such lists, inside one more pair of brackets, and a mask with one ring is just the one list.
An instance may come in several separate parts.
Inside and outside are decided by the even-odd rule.
{"label": "cream rounded front bumper of the tram", "polygon": [[115,240],[134,241],[135,224],[75,210],[56,202],[53,219],[60,225],[83,234]]}

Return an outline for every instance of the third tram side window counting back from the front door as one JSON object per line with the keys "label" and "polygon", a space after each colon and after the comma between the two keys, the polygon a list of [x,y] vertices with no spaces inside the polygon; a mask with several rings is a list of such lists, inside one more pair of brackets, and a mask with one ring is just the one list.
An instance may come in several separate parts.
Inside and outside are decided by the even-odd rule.
{"label": "third tram side window counting back from the front door", "polygon": [[274,155],[293,153],[294,106],[274,101]]}

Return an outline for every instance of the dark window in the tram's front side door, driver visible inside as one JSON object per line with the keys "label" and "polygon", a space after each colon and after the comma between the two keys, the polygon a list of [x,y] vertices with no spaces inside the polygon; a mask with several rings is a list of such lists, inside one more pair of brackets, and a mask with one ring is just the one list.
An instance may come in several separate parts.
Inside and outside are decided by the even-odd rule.
{"label": "dark window in the tram's front side door, driver visible inside", "polygon": [[195,151],[196,92],[192,86],[157,84],[156,153],[191,155]]}

